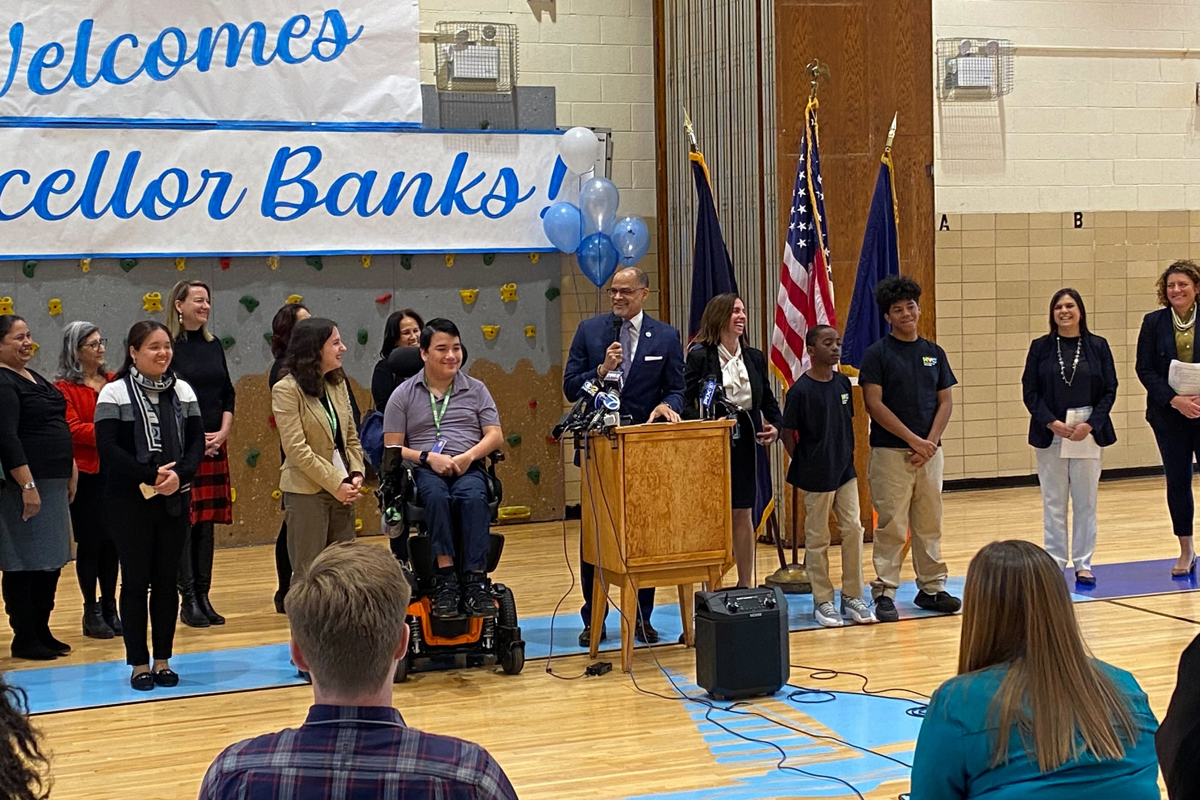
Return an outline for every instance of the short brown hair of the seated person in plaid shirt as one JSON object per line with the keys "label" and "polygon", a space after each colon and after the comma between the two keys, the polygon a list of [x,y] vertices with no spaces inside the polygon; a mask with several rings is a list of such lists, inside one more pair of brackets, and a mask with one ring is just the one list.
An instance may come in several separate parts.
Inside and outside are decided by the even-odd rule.
{"label": "short brown hair of the seated person in plaid shirt", "polygon": [[284,606],[292,638],[322,688],[378,690],[395,668],[412,589],[383,547],[338,542],[292,584]]}

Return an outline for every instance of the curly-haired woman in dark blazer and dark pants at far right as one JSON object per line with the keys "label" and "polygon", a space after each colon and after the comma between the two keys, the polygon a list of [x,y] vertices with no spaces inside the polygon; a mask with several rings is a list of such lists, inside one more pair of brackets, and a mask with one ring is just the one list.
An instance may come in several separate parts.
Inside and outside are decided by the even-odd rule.
{"label": "curly-haired woman in dark blazer and dark pants at far right", "polygon": [[1138,333],[1138,379],[1146,387],[1150,422],[1166,474],[1166,507],[1180,540],[1180,560],[1171,575],[1195,572],[1192,545],[1192,458],[1200,455],[1200,397],[1177,395],[1166,380],[1171,361],[1195,363],[1196,287],[1200,267],[1194,261],[1171,264],[1158,278],[1158,303],[1141,320]]}

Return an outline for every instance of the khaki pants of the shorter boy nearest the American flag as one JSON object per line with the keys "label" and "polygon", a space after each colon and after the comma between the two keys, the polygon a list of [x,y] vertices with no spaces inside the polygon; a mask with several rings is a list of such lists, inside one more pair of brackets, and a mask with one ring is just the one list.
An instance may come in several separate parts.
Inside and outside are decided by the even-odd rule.
{"label": "khaki pants of the shorter boy nearest the American flag", "polygon": [[863,524],[858,518],[858,479],[833,492],[804,493],[804,567],[812,583],[812,603],[833,602],[829,581],[829,509],[841,533],[841,596],[863,596]]}

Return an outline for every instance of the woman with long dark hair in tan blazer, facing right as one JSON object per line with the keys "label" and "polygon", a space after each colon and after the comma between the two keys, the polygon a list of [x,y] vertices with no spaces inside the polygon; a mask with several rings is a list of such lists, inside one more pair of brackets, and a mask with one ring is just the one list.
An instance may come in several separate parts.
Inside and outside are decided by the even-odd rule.
{"label": "woman with long dark hair in tan blazer, facing right", "polygon": [[296,323],[286,373],[271,390],[283,467],[280,489],[293,582],[328,545],[354,539],[362,446],[342,372],[346,345],[330,319]]}

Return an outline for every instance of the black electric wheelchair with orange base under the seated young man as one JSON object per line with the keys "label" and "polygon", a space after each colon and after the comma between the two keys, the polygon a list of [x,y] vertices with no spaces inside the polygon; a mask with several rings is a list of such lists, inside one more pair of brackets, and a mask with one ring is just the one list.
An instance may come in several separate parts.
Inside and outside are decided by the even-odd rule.
{"label": "black electric wheelchair with orange base under the seated young man", "polygon": [[[395,549],[407,553],[404,573],[413,587],[413,599],[408,606],[408,654],[396,667],[396,682],[407,679],[409,672],[478,667],[497,662],[509,675],[520,673],[524,668],[524,642],[521,639],[516,601],[511,589],[493,583],[490,577],[504,552],[504,536],[494,531],[488,534],[487,575],[484,579],[487,594],[498,607],[497,616],[444,619],[430,614],[437,559],[425,524],[425,507],[413,479],[414,467],[406,463],[400,453],[400,447],[384,447],[377,492],[379,509],[388,524],[398,527],[398,536],[407,540],[406,547]],[[487,457],[485,468],[492,523],[497,519],[500,500],[504,498],[504,487],[496,476],[496,464],[502,461],[504,453],[497,450]],[[416,535],[409,537],[413,527],[416,528]],[[454,537],[455,551],[461,553],[461,533],[455,530]]]}

